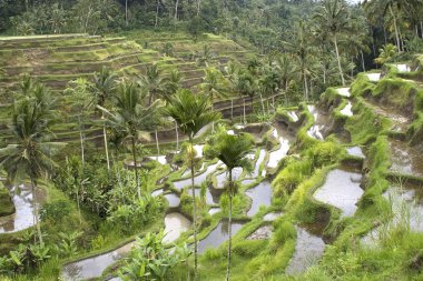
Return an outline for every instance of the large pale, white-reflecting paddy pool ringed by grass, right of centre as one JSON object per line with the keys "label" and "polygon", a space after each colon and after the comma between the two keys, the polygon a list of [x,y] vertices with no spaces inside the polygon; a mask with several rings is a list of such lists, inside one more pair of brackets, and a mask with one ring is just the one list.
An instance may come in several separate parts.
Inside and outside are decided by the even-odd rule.
{"label": "large pale, white-reflecting paddy pool ringed by grass, right of centre", "polygon": [[360,188],[361,173],[335,169],[328,172],[325,183],[314,193],[314,198],[332,204],[342,211],[343,217],[352,217],[357,210],[356,203],[363,195]]}

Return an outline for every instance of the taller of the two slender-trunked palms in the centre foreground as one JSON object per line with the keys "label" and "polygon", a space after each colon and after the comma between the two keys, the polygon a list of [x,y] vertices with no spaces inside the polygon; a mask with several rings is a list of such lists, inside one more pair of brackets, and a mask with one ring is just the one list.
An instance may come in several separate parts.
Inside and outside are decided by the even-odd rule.
{"label": "taller of the two slender-trunked palms in the centre foreground", "polygon": [[[207,97],[194,94],[189,90],[180,89],[170,99],[165,109],[165,114],[171,117],[179,126],[180,131],[188,136],[190,147],[194,147],[194,136],[205,126],[215,122],[222,118],[220,112],[210,111],[210,101]],[[193,189],[193,224],[194,224],[194,255],[195,271],[194,279],[197,278],[197,207],[194,185],[194,155],[189,153],[191,169],[191,189]]]}

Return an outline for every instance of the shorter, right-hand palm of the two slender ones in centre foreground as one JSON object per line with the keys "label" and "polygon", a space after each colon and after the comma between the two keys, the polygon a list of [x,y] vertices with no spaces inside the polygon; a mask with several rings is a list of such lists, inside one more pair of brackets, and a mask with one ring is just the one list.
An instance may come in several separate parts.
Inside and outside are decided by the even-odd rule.
{"label": "shorter, right-hand palm of the two slender ones in centre foreground", "polygon": [[230,275],[230,254],[232,254],[232,209],[233,209],[233,195],[236,193],[236,187],[233,179],[233,170],[236,167],[242,167],[247,171],[250,171],[252,164],[247,158],[248,152],[253,149],[254,140],[249,134],[233,136],[227,132],[223,132],[217,136],[215,144],[212,147],[212,154],[218,158],[222,162],[226,164],[229,171],[228,184],[226,191],[229,195],[229,242],[228,242],[228,253],[227,253],[227,269],[226,269],[226,280],[229,280]]}

